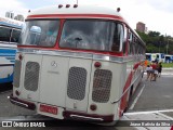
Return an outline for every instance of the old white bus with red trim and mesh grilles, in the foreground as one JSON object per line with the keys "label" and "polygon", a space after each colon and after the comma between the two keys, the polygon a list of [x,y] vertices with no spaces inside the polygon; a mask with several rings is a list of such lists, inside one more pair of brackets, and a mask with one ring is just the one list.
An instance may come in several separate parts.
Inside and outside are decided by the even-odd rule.
{"label": "old white bus with red trim and mesh grilles, in the foreground", "polygon": [[118,120],[143,77],[145,43],[118,10],[31,11],[15,56],[10,101],[57,119]]}

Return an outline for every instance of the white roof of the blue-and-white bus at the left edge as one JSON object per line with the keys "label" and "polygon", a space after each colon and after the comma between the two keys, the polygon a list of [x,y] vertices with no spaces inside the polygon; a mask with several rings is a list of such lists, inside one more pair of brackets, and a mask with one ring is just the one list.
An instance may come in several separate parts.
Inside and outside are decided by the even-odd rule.
{"label": "white roof of the blue-and-white bus at the left edge", "polygon": [[24,26],[24,22],[19,22],[8,17],[0,17],[0,25],[22,29]]}

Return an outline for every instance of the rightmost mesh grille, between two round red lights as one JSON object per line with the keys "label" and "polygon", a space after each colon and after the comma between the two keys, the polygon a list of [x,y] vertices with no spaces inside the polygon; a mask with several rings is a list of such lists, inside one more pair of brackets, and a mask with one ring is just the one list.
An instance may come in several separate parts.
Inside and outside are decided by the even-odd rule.
{"label": "rightmost mesh grille, between two round red lights", "polygon": [[92,100],[98,103],[106,103],[110,96],[112,74],[110,70],[97,69],[94,73]]}

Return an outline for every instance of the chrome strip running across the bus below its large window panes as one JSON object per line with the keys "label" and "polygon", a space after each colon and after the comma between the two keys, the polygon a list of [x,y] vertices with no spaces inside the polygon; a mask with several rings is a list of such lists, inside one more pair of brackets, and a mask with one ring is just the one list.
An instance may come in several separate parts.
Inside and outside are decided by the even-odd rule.
{"label": "chrome strip running across the bus below its large window panes", "polygon": [[59,55],[65,57],[81,57],[81,58],[89,58],[95,61],[107,61],[107,62],[116,62],[116,63],[127,63],[134,60],[139,61],[139,58],[144,58],[144,55],[130,55],[130,56],[110,56],[106,54],[94,54],[94,53],[86,53],[86,52],[69,52],[69,51],[46,51],[40,49],[18,49],[17,53],[25,53],[25,54],[43,54],[43,55]]}

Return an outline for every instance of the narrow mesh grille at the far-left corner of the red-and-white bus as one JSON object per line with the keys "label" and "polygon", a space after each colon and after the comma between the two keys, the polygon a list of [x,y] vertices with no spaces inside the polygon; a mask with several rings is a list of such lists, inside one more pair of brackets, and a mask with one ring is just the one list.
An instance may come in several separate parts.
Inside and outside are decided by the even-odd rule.
{"label": "narrow mesh grille at the far-left corner of the red-and-white bus", "polygon": [[19,87],[19,79],[21,79],[21,61],[16,60],[14,64],[14,77],[13,77],[13,86]]}

